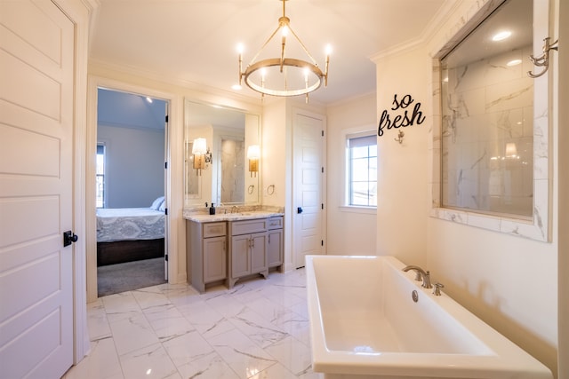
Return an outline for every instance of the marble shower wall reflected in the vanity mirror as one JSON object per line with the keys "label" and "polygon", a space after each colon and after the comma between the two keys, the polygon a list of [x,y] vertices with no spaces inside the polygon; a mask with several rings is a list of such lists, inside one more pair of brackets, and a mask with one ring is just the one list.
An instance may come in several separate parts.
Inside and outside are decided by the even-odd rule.
{"label": "marble shower wall reflected in the vanity mirror", "polygon": [[221,141],[221,202],[244,202],[244,141]]}

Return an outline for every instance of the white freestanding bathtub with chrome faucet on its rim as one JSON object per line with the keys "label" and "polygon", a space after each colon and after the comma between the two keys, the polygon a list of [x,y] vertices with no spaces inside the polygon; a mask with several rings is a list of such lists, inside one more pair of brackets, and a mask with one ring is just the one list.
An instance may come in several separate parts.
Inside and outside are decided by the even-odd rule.
{"label": "white freestanding bathtub with chrome faucet on its rim", "polygon": [[306,257],[315,372],[325,379],[553,377],[445,293],[421,288],[404,267],[395,257]]}

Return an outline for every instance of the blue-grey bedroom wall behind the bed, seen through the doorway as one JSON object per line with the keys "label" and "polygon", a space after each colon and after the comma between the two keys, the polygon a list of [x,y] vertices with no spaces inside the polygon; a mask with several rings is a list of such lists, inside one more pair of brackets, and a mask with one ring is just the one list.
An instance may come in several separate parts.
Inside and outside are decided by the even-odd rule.
{"label": "blue-grey bedroom wall behind the bed, seen through the doorway", "polygon": [[106,149],[106,208],[146,208],[164,196],[164,130],[99,125]]}

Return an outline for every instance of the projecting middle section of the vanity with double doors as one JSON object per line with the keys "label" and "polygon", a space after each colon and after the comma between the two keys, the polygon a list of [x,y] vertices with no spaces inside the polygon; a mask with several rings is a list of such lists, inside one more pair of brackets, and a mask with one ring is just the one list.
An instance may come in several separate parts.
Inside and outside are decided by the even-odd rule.
{"label": "projecting middle section of the vanity with double doors", "polygon": [[268,276],[268,218],[230,221],[228,287],[244,276]]}

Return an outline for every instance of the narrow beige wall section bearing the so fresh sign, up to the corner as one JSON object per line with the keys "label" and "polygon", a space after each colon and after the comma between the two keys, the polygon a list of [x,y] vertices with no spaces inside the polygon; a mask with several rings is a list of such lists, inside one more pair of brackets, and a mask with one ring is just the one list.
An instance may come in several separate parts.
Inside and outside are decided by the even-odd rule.
{"label": "narrow beige wall section bearing the so fresh sign, up to the corner", "polygon": [[[421,64],[422,61],[422,64]],[[377,62],[378,120],[390,110],[395,95],[411,95],[429,109],[430,67],[423,51],[411,51]],[[391,112],[392,118],[400,111]],[[403,128],[399,144],[394,138],[400,130],[384,129],[378,137],[377,253],[399,257],[408,265],[427,263],[428,225],[428,121]]]}

